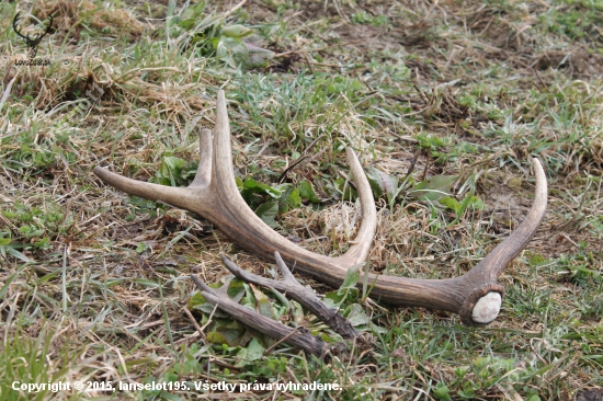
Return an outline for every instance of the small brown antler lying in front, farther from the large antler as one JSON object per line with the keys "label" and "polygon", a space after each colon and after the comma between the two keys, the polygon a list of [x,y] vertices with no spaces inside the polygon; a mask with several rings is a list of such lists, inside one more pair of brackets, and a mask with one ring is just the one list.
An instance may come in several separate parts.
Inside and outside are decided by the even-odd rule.
{"label": "small brown antler lying in front, farther from the large antler", "polygon": [[216,305],[218,309],[230,314],[241,323],[274,340],[286,339],[285,342],[287,344],[318,357],[321,357],[327,353],[327,344],[319,337],[311,335],[307,329],[293,329],[275,320],[269,319],[254,310],[251,310],[250,308],[235,302],[228,298],[227,295],[218,295],[197,276],[192,275],[191,278],[195,282],[205,300],[212,305]]}

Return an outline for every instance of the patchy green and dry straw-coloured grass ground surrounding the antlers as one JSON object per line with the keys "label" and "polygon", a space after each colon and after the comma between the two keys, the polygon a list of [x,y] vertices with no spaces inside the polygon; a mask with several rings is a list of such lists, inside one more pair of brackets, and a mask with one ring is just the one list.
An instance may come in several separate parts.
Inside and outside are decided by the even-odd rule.
{"label": "patchy green and dry straw-coloured grass ground surrounding the antlers", "polygon": [[[602,4],[258,0],[229,13],[232,7],[0,5],[0,400],[185,400],[198,396],[194,383],[218,382],[255,383],[236,392],[241,400],[600,393]],[[54,15],[37,53],[49,66],[14,64],[27,57],[11,27],[18,11]],[[34,24],[26,21],[25,32]],[[186,184],[197,163],[194,128],[213,125],[219,89],[246,199],[315,252],[339,254],[353,238],[343,156],[354,147],[379,197],[371,268],[382,274],[443,278],[474,266],[525,216],[534,188],[527,159],[537,157],[548,210],[501,276],[497,321],[470,329],[448,313],[331,293],[373,333],[371,350],[329,364],[283,344],[261,355],[268,340],[194,310],[201,325],[242,333],[215,344],[207,332],[217,329],[207,325],[202,336],[183,311],[196,299],[191,273],[219,282],[223,254],[259,274],[274,267],[204,220],[125,196],[91,170]],[[278,183],[295,160],[303,162]],[[444,175],[454,181],[433,184]],[[425,186],[451,196],[418,195]],[[246,301],[272,299],[274,316],[332,336],[295,305],[246,288]],[[77,380],[96,387],[12,388]],[[120,382],[172,387],[126,391]],[[269,386],[288,382],[342,390]],[[191,390],[174,387],[182,383]]]}

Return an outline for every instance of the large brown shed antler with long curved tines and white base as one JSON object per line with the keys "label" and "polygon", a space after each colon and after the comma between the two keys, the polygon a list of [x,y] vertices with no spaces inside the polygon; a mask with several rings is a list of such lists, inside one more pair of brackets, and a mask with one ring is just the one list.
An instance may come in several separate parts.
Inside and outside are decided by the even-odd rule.
{"label": "large brown shed antler with long curved tines and white base", "polygon": [[[106,184],[130,195],[193,211],[216,225],[241,248],[273,260],[278,252],[286,263],[303,273],[340,285],[353,265],[365,263],[377,222],[375,200],[364,171],[351,148],[348,160],[361,200],[362,222],[355,240],[344,255],[330,257],[310,252],[288,241],[266,226],[247,206],[239,194],[230,154],[230,127],[224,92],[218,92],[214,138],[209,129],[200,134],[201,161],[189,187],[168,187],[126,179],[100,167],[96,174]],[[416,279],[368,275],[374,283],[372,297],[392,305],[425,307],[458,313],[468,325],[493,321],[501,307],[504,289],[497,284],[503,268],[527,245],[546,211],[546,176],[537,159],[532,159],[536,175],[534,206],[520,227],[496,247],[471,271],[447,279]]]}

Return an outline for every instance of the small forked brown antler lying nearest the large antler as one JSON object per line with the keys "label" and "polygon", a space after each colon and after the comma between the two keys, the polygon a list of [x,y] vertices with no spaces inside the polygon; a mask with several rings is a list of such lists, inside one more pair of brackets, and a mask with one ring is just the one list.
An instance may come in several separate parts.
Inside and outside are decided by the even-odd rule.
{"label": "small forked brown antler lying nearest the large antler", "polygon": [[246,272],[237,266],[228,257],[221,256],[221,261],[224,262],[225,266],[235,276],[244,282],[258,284],[263,287],[272,287],[281,293],[284,293],[285,295],[288,295],[289,298],[295,299],[304,308],[316,314],[321,321],[327,323],[329,328],[333,329],[333,331],[341,335],[343,339],[355,339],[360,335],[360,333],[356,331],[356,329],[354,329],[354,326],[352,325],[352,323],[350,323],[348,319],[342,317],[341,313],[339,313],[337,310],[329,308],[325,302],[318,299],[318,297],[310,288],[304,287],[295,279],[278,252],[274,252],[274,260],[276,261],[278,271],[283,276],[283,280],[264,278],[253,273]]}

